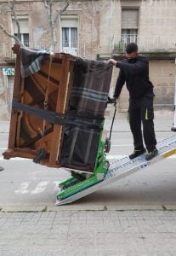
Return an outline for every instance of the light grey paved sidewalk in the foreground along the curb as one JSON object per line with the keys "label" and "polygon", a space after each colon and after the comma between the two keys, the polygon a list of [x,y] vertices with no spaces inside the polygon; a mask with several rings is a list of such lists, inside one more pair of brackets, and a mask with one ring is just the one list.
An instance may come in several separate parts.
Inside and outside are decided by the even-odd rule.
{"label": "light grey paved sidewalk in the foreground along the curb", "polygon": [[175,256],[176,212],[0,212],[1,256]]}

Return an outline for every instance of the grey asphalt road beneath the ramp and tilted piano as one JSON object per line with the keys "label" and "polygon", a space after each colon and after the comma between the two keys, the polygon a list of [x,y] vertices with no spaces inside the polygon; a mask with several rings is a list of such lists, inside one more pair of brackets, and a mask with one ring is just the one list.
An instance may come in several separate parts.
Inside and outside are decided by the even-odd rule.
{"label": "grey asphalt road beneath the ramp and tilted piano", "polygon": [[[173,133],[169,131],[156,133],[158,141],[170,135]],[[4,167],[4,171],[0,172],[0,207],[21,210],[26,207],[31,211],[37,207],[54,207],[58,183],[69,177],[69,173],[63,169],[36,165],[31,160],[3,160],[8,136],[8,133],[0,133],[0,166]],[[113,132],[108,158],[116,160],[132,151],[131,133]],[[175,160],[175,156],[162,160],[60,209],[176,208]]]}

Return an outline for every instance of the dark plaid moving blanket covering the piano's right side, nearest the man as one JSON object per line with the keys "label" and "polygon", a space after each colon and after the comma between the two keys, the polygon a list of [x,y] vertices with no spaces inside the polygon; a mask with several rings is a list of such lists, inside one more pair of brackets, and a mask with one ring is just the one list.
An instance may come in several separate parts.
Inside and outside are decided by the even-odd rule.
{"label": "dark plaid moving blanket covering the piano's right side, nearest the man", "polygon": [[[70,107],[86,115],[104,118],[111,84],[112,65],[104,61],[77,58],[71,89]],[[92,120],[96,123],[96,119]],[[94,172],[100,131],[85,128],[65,129],[61,166]]]}

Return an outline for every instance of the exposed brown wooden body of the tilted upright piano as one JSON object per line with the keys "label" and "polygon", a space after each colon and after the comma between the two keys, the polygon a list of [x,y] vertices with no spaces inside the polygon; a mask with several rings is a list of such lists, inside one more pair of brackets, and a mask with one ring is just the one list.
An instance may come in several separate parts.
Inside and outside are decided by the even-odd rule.
{"label": "exposed brown wooden body of the tilted upright piano", "polygon": [[[65,113],[68,108],[74,57],[56,54],[50,60],[42,63],[39,72],[23,79],[20,74],[20,47],[14,45],[16,66],[14,76],[14,102],[23,102],[38,108],[43,108],[48,90],[48,110]],[[49,67],[50,65],[50,67]],[[43,136],[43,125],[46,135]],[[3,153],[5,159],[23,157],[35,159],[40,148],[48,152],[47,158],[41,164],[59,167],[59,154],[64,127],[52,125],[24,111],[12,108],[9,148]]]}

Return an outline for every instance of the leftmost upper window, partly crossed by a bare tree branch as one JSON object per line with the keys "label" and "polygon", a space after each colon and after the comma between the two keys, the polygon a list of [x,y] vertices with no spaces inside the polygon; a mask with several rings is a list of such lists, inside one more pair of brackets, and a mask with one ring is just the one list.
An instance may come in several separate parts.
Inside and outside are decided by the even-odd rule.
{"label": "leftmost upper window, partly crossed by a bare tree branch", "polygon": [[[29,24],[28,17],[26,15],[18,15],[17,16],[20,23],[20,41],[22,44],[29,46]],[[12,17],[14,36],[17,36],[18,28],[16,26],[16,22]]]}

